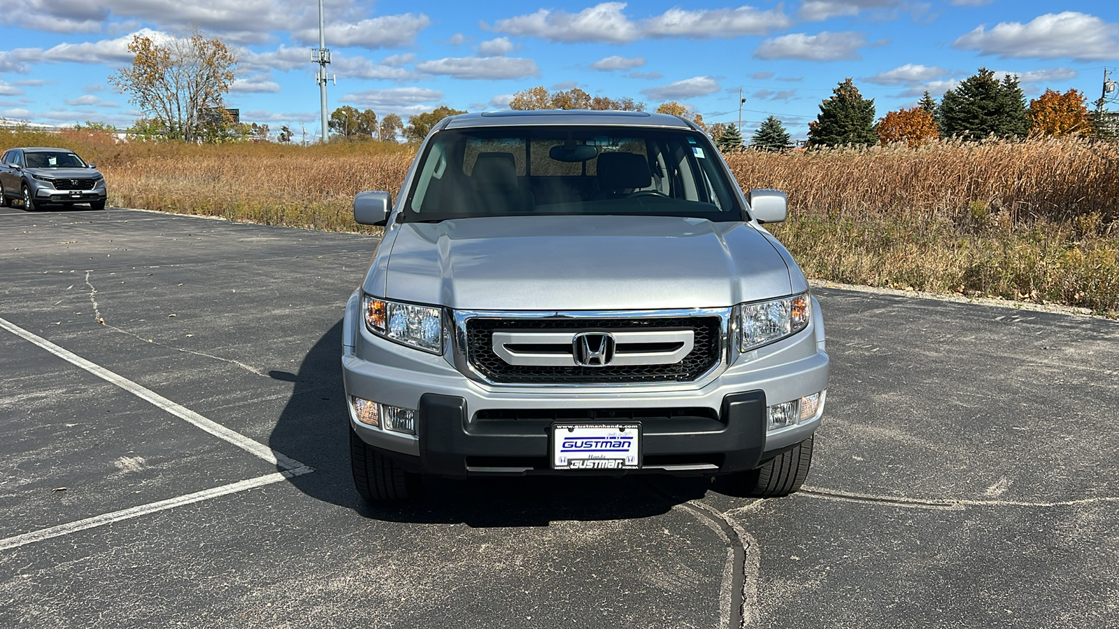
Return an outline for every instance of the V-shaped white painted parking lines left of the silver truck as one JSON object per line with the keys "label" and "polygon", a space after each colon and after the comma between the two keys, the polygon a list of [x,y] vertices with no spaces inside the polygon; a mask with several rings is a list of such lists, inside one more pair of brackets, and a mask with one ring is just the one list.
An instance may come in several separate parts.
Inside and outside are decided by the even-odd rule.
{"label": "V-shaped white painted parking lines left of the silver truck", "polygon": [[291,457],[276,452],[275,450],[269,448],[267,445],[254,441],[241,434],[239,432],[229,430],[217,422],[208,420],[199,415],[198,413],[191,411],[190,409],[187,409],[181,404],[171,402],[170,400],[163,397],[162,395],[159,395],[158,393],[149,388],[140,386],[139,384],[125,378],[124,376],[117,375],[100,365],[91,363],[90,360],[82,358],[81,356],[74,354],[73,351],[64,349],[43,337],[36,336],[20,328],[19,326],[16,326],[15,323],[8,321],[7,319],[0,318],[0,328],[8,330],[11,334],[25,340],[34,342],[35,345],[41,347],[43,349],[46,349],[47,351],[54,354],[55,356],[58,356],[59,358],[66,360],[67,363],[76,365],[85,369],[86,372],[90,372],[91,374],[97,376],[98,378],[110,382],[123,388],[124,391],[128,391],[129,393],[135,395],[137,397],[145,400],[151,404],[154,404],[159,409],[167,411],[168,413],[177,417],[186,420],[187,422],[190,422],[191,424],[203,429],[204,431],[213,434],[214,436],[217,436],[223,441],[232,443],[233,445],[236,445],[237,448],[241,448],[242,450],[255,457],[264,459],[265,461],[274,466],[278,466],[283,470],[252,478],[248,480],[242,480],[238,482],[232,482],[229,485],[223,485],[220,487],[214,487],[211,489],[204,489],[203,491],[196,491],[194,494],[187,494],[185,496],[178,496],[176,498],[169,498],[167,500],[160,500],[158,503],[140,505],[138,507],[131,507],[120,511],[113,511],[111,514],[103,514],[100,516],[94,516],[91,518],[72,522],[69,524],[62,524],[58,526],[51,526],[49,528],[44,528],[40,531],[34,531],[31,533],[16,535],[13,537],[0,539],[0,551],[7,551],[9,548],[16,548],[18,546],[23,546],[26,544],[41,542],[44,539],[50,539],[51,537],[68,535],[70,533],[76,533],[78,531],[85,531],[87,528],[104,526],[106,524],[120,522],[123,519],[134,518],[152,514],[156,511],[162,511],[181,505],[200,503],[203,500],[208,500],[210,498],[217,498],[218,496],[227,496],[229,494],[236,494],[238,491],[245,491],[247,489],[263,487],[265,485],[280,482],[288,478],[314,471],[312,468],[304,466],[303,463],[297,461],[295,459],[292,459]]}

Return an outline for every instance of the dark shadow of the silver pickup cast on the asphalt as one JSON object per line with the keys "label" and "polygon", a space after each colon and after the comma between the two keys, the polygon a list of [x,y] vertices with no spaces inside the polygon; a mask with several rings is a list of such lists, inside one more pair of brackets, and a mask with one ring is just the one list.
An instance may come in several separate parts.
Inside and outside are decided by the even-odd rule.
{"label": "dark shadow of the silver pickup cast on the asphalt", "polygon": [[402,523],[472,527],[548,526],[555,520],[608,520],[661,515],[700,498],[706,478],[652,476],[425,478],[421,498],[402,506],[366,505],[350,476],[346,394],[341,381],[341,321],[307,353],[299,372],[271,372],[294,383],[269,445],[314,472],[291,478],[301,491],[363,516]]}

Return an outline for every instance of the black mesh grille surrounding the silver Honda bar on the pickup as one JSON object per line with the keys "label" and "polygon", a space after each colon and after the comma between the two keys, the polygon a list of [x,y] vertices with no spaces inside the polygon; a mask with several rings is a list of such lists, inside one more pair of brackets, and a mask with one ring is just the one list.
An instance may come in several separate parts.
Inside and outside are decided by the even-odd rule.
{"label": "black mesh grille surrounding the silver Honda bar on the pickup", "polygon": [[[546,331],[651,331],[690,329],[695,346],[683,360],[671,365],[627,365],[582,367],[572,365],[509,365],[493,354],[493,332]],[[563,318],[467,320],[467,358],[473,368],[493,383],[507,384],[626,384],[687,383],[706,374],[720,359],[722,319],[713,316],[665,318]]]}

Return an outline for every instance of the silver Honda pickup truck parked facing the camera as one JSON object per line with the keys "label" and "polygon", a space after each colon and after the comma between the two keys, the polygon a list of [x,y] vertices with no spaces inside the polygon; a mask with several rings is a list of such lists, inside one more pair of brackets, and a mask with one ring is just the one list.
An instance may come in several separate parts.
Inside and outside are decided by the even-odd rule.
{"label": "silver Honda pickup truck parked facing the camera", "polygon": [[731,475],[794,491],[828,385],[808,282],[707,137],[643,112],[446,118],[346,306],[358,492],[422,475]]}

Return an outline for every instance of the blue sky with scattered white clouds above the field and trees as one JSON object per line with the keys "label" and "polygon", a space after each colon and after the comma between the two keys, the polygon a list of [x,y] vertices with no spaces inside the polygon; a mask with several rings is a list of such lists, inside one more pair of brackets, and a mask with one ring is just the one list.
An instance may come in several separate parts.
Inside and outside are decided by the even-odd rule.
{"label": "blue sky with scattered white clouds above the field and trees", "polygon": [[[881,118],[986,66],[1027,96],[1100,96],[1119,66],[1119,2],[1035,0],[693,0],[431,2],[327,0],[330,109],[407,115],[438,105],[505,109],[537,85],[676,100],[749,137],[769,114],[797,137],[852,77]],[[243,122],[319,134],[314,0],[0,0],[0,116],[130,125],[139,115],[109,76],[132,36],[200,27],[235,45],[227,104]],[[1119,73],[1117,73],[1119,74]],[[1119,105],[1111,105],[1119,109]]]}

